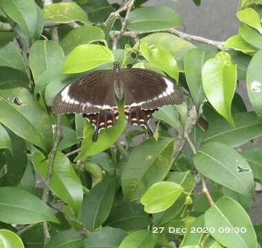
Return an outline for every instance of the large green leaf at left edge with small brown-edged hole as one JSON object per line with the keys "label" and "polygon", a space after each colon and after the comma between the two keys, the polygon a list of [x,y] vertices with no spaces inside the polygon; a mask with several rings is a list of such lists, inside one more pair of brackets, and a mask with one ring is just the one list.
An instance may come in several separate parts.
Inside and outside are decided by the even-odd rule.
{"label": "large green leaf at left edge with small brown-edged hole", "polygon": [[43,149],[52,145],[50,116],[25,88],[0,90],[0,122]]}

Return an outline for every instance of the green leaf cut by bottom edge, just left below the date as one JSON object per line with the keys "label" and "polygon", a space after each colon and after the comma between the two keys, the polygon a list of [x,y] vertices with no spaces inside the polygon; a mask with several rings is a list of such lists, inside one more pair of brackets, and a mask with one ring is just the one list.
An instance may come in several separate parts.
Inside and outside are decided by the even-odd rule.
{"label": "green leaf cut by bottom edge, just left below the date", "polygon": [[152,232],[148,230],[137,230],[125,236],[119,248],[154,248],[155,241]]}

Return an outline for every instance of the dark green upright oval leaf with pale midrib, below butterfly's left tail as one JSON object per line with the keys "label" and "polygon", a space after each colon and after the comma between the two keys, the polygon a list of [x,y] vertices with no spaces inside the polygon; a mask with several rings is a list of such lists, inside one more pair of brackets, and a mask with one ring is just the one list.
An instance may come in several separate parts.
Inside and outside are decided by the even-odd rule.
{"label": "dark green upright oval leaf with pale midrib, below butterfly's left tail", "polygon": [[114,179],[104,179],[97,183],[85,197],[82,205],[82,218],[85,226],[91,231],[100,227],[108,218],[114,202]]}

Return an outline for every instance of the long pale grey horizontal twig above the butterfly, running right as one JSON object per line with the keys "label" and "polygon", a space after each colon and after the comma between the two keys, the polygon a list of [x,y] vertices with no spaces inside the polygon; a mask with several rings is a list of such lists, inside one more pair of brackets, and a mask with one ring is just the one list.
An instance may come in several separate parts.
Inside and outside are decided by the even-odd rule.
{"label": "long pale grey horizontal twig above the butterfly, running right", "polygon": [[[119,35],[120,32],[121,31],[118,31],[118,30],[112,30],[112,31],[110,31],[110,36],[117,36],[117,35]],[[211,39],[206,39],[206,38],[199,37],[199,36],[196,36],[196,35],[186,34],[185,32],[181,32],[181,31],[179,31],[175,28],[168,28],[168,29],[155,30],[155,31],[143,31],[143,32],[126,31],[126,32],[123,32],[121,35],[126,36],[126,37],[135,38],[135,37],[138,37],[141,34],[150,34],[150,33],[155,33],[155,32],[168,32],[170,34],[175,34],[178,37],[180,37],[181,39],[185,39],[185,40],[188,40],[188,41],[197,41],[197,42],[200,42],[200,43],[214,45],[219,50],[223,50],[223,47],[225,45],[225,42],[223,42],[223,41],[213,41]]]}

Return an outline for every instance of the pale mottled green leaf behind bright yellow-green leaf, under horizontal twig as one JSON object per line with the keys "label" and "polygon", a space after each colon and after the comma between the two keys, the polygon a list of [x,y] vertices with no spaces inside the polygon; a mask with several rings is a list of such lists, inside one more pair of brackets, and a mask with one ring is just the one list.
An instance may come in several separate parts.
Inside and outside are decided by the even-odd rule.
{"label": "pale mottled green leaf behind bright yellow-green leaf, under horizontal twig", "polygon": [[179,71],[183,72],[183,59],[185,53],[191,50],[192,48],[196,48],[189,41],[185,41],[174,34],[165,33],[165,32],[157,32],[154,34],[149,34],[146,37],[141,39],[141,43],[148,44],[159,44],[162,45],[163,48],[171,52],[174,58],[177,61],[177,65],[179,66]]}

